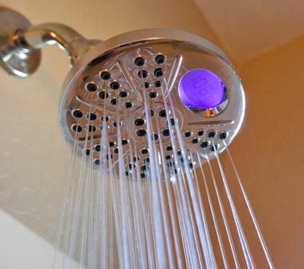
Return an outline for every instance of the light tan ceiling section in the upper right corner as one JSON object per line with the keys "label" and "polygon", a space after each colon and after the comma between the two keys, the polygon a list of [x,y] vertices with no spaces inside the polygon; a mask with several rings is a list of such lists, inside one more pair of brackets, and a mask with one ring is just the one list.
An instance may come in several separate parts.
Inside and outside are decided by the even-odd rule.
{"label": "light tan ceiling section in the upper right corner", "polygon": [[304,34],[301,0],[193,2],[237,63]]}

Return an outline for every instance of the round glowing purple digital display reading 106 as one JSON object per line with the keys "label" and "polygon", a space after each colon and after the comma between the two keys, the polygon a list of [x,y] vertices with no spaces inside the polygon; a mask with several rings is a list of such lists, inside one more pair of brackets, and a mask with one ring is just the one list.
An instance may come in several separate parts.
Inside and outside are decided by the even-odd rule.
{"label": "round glowing purple digital display reading 106", "polygon": [[185,106],[212,109],[224,98],[225,84],[220,77],[206,69],[193,69],[182,76],[178,91]]}

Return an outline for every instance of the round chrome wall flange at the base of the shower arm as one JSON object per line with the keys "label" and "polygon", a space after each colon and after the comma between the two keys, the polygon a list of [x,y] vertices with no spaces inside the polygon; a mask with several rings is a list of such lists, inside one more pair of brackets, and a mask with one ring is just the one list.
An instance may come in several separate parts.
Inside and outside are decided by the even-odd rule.
{"label": "round chrome wall flange at the base of the shower arm", "polygon": [[18,46],[15,35],[32,24],[20,13],[0,6],[0,65],[11,75],[28,77],[34,73],[41,59],[39,49]]}

